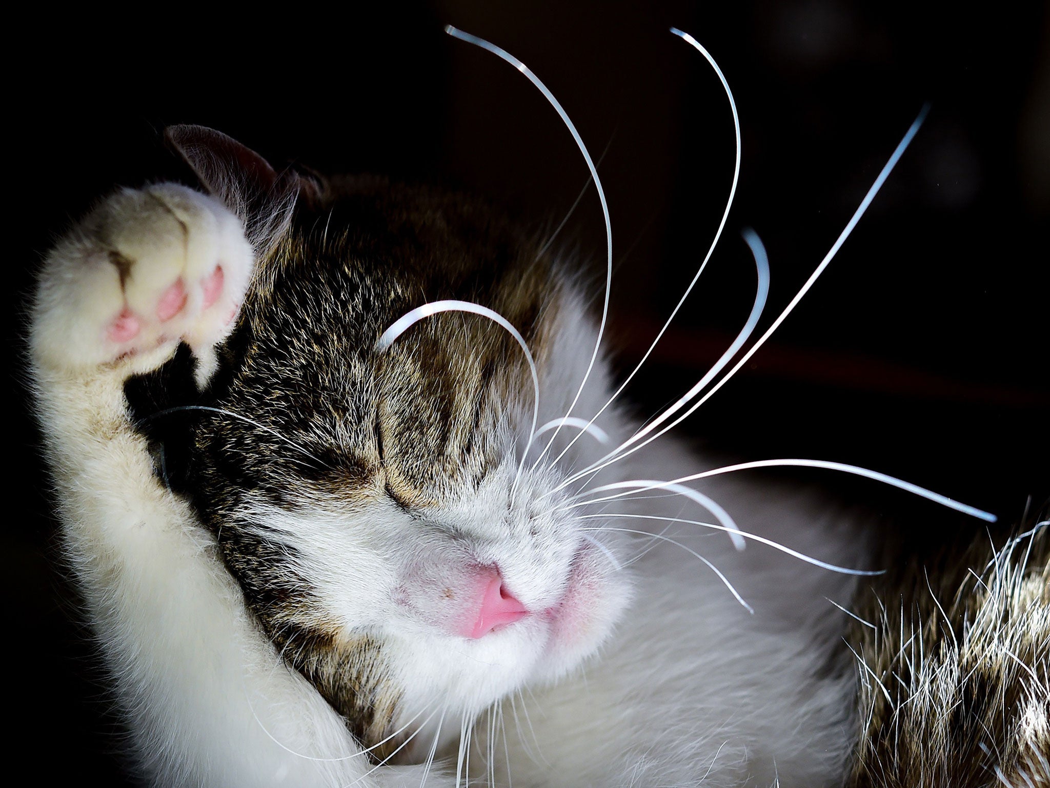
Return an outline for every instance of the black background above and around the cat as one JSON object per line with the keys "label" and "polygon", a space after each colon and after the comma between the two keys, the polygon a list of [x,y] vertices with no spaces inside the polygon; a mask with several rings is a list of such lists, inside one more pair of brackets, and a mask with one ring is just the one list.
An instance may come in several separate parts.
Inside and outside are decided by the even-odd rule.
{"label": "black background above and around the cat", "polygon": [[[48,560],[55,526],[22,392],[20,304],[54,233],[118,184],[187,179],[169,123],[218,128],[275,164],[373,171],[488,194],[552,228],[587,181],[553,110],[512,68],[445,36],[453,23],[524,60],[595,159],[612,212],[610,347],[630,369],[699,265],[743,133],[737,201],[697,289],[633,386],[643,415],[721,353],[754,294],[754,227],[773,285],[763,326],[835,241],[923,102],[911,148],[824,276],[686,433],[742,459],[867,465],[1018,519],[1050,495],[1050,29],[1040,3],[842,0],[432,2],[308,17],[39,19],[9,72],[14,282],[4,313],[15,647],[7,718],[39,753],[35,782],[114,775],[120,749],[87,634]],[[19,35],[15,38],[19,38]],[[10,216],[8,209],[8,216]],[[601,289],[593,189],[556,242]],[[975,523],[827,472],[859,507],[941,539]],[[916,523],[920,523],[917,525]],[[21,754],[21,753],[19,753]],[[46,775],[46,776],[45,776]]]}

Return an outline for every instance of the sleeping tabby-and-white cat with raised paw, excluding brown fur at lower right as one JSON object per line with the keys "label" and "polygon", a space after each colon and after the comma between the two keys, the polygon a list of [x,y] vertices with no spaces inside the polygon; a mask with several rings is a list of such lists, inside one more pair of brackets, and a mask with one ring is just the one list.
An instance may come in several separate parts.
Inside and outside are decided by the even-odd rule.
{"label": "sleeping tabby-and-white cat with raised paw, excluding brown fur at lower right", "polygon": [[[702,513],[559,489],[606,455],[595,434],[630,437],[615,407],[533,465],[537,424],[611,391],[601,358],[582,386],[596,337],[570,271],[478,201],[169,137],[209,194],[102,202],[49,254],[32,338],[68,556],[154,783],[455,784],[470,758],[519,785],[835,782],[856,666],[825,597],[849,606],[856,576],[718,533],[702,558],[651,549],[674,532],[643,518]],[[514,326],[537,390],[485,314],[377,348],[436,300]],[[664,438],[591,486],[708,464]],[[864,523],[818,497],[702,491],[872,566]]]}

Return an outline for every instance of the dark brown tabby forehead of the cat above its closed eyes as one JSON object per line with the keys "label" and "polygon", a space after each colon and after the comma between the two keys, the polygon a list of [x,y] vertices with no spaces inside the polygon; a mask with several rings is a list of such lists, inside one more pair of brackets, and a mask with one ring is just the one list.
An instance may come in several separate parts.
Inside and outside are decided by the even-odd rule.
{"label": "dark brown tabby forehead of the cat above its closed eyes", "polygon": [[421,320],[384,351],[377,339],[423,304],[465,300],[506,317],[542,364],[559,278],[477,201],[368,179],[338,189],[300,209],[261,262],[233,339],[231,405],[337,468],[381,469],[403,500],[432,502],[514,450],[533,396],[524,354],[463,313]]}

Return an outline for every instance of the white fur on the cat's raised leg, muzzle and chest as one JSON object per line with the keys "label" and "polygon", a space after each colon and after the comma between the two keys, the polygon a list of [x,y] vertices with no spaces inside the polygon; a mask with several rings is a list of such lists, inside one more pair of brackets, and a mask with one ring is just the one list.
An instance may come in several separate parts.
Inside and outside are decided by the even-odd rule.
{"label": "white fur on the cat's raised leg, muzzle and chest", "polygon": [[[105,327],[124,295],[98,228],[110,228],[107,243],[136,261],[127,297],[143,310],[174,277],[209,270],[216,255],[231,261],[226,297],[239,303],[251,267],[237,220],[217,201],[170,185],[151,189],[166,205],[145,192],[121,192],[56,247],[33,327],[40,417],[67,554],[140,761],[163,786],[419,785],[421,765],[371,770],[340,718],[284,665],[248,614],[213,537],[156,482],[145,441],[127,421],[124,380],[170,357],[175,337],[158,329],[150,335],[156,347],[127,356],[106,344]],[[172,205],[192,241],[172,227]],[[558,340],[542,370],[541,422],[565,415],[593,348],[593,328],[575,296],[560,307]],[[181,331],[207,357],[225,323],[209,322],[192,303],[189,312]],[[607,368],[598,365],[573,415],[594,413],[609,390]],[[513,405],[530,411],[524,399]],[[614,442],[633,429],[615,409],[597,423]],[[564,432],[559,451],[574,435]],[[506,741],[497,728],[494,739],[483,714],[471,771],[491,766],[500,785],[509,784],[508,774],[516,786],[576,788],[834,780],[845,758],[853,678],[813,673],[843,621],[825,597],[845,601],[852,581],[760,545],[737,553],[724,534],[704,536],[698,526],[616,517],[702,520],[704,512],[680,497],[560,509],[564,498],[544,494],[564,473],[604,454],[589,440],[583,436],[556,471],[541,465],[526,473],[509,515],[517,458],[508,457],[478,491],[462,491],[456,503],[432,513],[435,534],[378,498],[280,511],[259,503],[244,514],[297,548],[299,568],[348,633],[384,635],[405,693],[397,725],[427,722],[406,750],[414,759],[425,758],[439,719],[447,718],[439,751],[454,754],[462,717],[498,704]],[[595,483],[670,479],[704,464],[662,439],[603,471]],[[860,560],[853,532],[802,496],[777,501],[730,480],[704,491],[746,530],[835,563]],[[573,514],[585,511],[608,519]],[[345,527],[348,521],[356,527]],[[584,538],[591,532],[581,531],[601,525],[681,539],[717,565],[756,613],[685,551],[592,532],[627,564],[617,569]],[[478,640],[449,635],[441,611],[412,603],[419,590],[412,583],[424,582],[418,578],[459,571],[460,548],[449,546],[442,528],[466,543],[469,558],[498,563],[529,609],[558,605],[569,594],[569,613],[558,620],[532,616]],[[399,588],[407,603],[398,602]],[[485,759],[488,766],[481,765]],[[435,769],[427,784],[456,780]]]}

